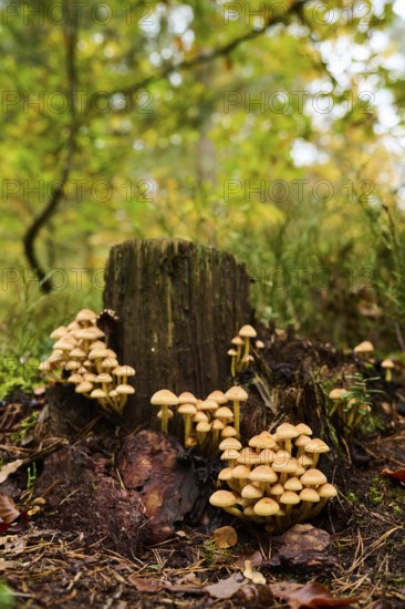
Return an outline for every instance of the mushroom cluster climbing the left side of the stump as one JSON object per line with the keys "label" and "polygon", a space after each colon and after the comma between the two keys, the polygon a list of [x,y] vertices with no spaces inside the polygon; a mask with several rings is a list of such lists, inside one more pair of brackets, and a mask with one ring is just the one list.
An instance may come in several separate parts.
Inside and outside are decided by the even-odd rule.
{"label": "mushroom cluster climbing the left side of the stump", "polygon": [[74,384],[76,393],[97,400],[105,411],[122,414],[128,395],[135,393],[128,384],[135,370],[120,365],[96,321],[94,311],[83,309],[69,326],[53,330],[52,354],[39,369],[53,381]]}

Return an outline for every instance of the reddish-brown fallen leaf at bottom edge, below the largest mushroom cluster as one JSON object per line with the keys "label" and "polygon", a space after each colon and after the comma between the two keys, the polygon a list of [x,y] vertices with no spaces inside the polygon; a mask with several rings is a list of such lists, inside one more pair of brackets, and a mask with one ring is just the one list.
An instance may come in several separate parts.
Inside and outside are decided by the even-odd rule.
{"label": "reddish-brown fallen leaf at bottom edge, below the largest mushroom cluster", "polygon": [[349,607],[353,602],[361,600],[361,597],[334,598],[330,590],[318,584],[310,581],[304,586],[297,584],[281,582],[270,586],[274,597],[283,598],[288,601],[290,609],[301,609],[309,607]]}

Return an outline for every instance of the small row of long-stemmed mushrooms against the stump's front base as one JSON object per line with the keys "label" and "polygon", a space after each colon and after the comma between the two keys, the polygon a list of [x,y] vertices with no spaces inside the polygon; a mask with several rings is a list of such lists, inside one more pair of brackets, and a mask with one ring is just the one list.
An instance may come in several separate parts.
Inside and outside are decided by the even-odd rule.
{"label": "small row of long-stemmed mushrooms against the stump's front base", "polygon": [[154,393],[150,403],[160,407],[157,416],[163,433],[167,433],[168,421],[174,416],[169,406],[177,406],[177,413],[184,420],[185,446],[198,445],[204,452],[215,455],[221,440],[240,436],[240,409],[247,399],[247,392],[239,385],[231,386],[226,393],[212,391],[205,400],[198,400],[188,391],[176,396],[162,389]]}

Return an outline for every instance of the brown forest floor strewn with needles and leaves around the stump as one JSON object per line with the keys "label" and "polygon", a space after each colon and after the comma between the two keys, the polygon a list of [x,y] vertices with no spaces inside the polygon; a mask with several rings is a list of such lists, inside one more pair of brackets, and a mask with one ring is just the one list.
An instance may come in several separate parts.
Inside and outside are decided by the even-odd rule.
{"label": "brown forest floor strewn with needles and leaves around the stump", "polygon": [[[264,358],[283,389],[297,386],[308,370],[335,379],[344,367],[356,367],[329,345],[287,337],[267,342]],[[292,369],[302,374],[291,374]],[[70,496],[50,504],[54,492],[50,485],[34,513],[22,514],[10,526],[0,523],[0,577],[14,595],[14,607],[343,607],[349,606],[342,600],[347,597],[353,598],[351,607],[362,609],[405,607],[404,478],[382,474],[385,468],[405,468],[401,374],[373,396],[373,407],[381,411],[374,429],[359,435],[353,450],[346,445],[344,458],[329,463],[336,474],[339,496],[311,522],[313,529],[308,527],[294,539],[271,535],[209,508],[202,509],[199,523],[178,523],[163,543],[144,541],[136,551],[123,550],[105,536],[87,535],[80,516],[68,522],[62,504]],[[39,442],[45,419],[46,398],[41,390],[31,395],[15,393],[1,402],[0,457],[3,465],[15,460],[23,464],[2,482],[0,492],[31,510],[33,497],[39,496],[35,482],[41,478],[44,455],[61,446],[55,437],[42,436]],[[82,441],[83,434],[76,443]],[[206,498],[211,491],[208,481]],[[101,509],[94,518],[102,514]],[[238,544],[228,549],[216,547],[212,536],[224,525],[232,525],[238,534]],[[309,534],[313,537],[307,547],[303,536]],[[243,579],[247,560],[266,584]],[[313,581],[334,600],[326,598],[323,588],[302,588]],[[210,586],[217,582],[219,587]],[[1,602],[0,595],[0,607],[6,608]]]}

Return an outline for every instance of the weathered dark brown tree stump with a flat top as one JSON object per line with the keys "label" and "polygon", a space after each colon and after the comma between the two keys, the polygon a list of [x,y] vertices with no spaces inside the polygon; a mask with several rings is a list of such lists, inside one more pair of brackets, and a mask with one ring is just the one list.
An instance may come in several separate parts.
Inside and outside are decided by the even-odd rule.
{"label": "weathered dark brown tree stump with a flat top", "polygon": [[120,361],[136,369],[125,423],[156,416],[155,391],[225,389],[229,342],[252,321],[250,278],[231,254],[180,239],[131,240],[112,248],[104,306],[118,316],[106,328]]}

